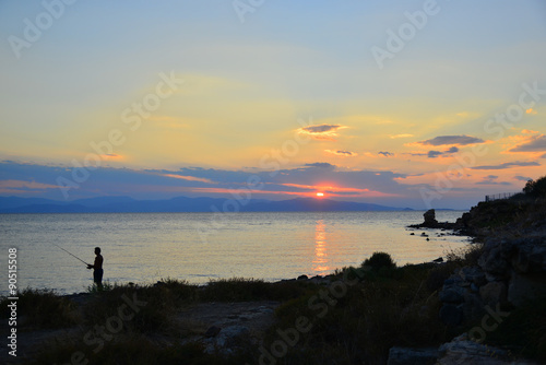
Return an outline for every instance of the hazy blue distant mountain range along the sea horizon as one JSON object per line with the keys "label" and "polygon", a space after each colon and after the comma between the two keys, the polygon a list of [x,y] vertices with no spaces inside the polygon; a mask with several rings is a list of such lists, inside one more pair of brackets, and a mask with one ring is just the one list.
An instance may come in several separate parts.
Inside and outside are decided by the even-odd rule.
{"label": "hazy blue distant mountain range along the sea horizon", "polygon": [[0,197],[0,213],[176,213],[176,212],[342,212],[401,211],[370,203],[330,199],[297,198],[282,201],[252,199],[177,197],[165,200],[135,200],[129,197],[99,197],[59,201],[43,198]]}

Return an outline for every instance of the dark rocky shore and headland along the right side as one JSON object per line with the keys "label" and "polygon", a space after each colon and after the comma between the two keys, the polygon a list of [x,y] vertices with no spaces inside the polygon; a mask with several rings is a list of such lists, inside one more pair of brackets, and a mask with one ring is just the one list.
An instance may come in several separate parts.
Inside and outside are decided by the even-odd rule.
{"label": "dark rocky shore and headland along the right side", "polygon": [[[539,364],[514,360],[510,349],[486,345],[488,337],[525,335],[502,322],[524,313],[529,320],[545,320],[546,203],[543,199],[505,199],[482,202],[454,223],[437,222],[435,211],[414,228],[453,229],[474,237],[476,250],[464,267],[443,282],[438,293],[439,317],[450,327],[476,323],[438,349],[391,349],[390,365],[417,363],[423,356],[438,364]],[[536,316],[533,315],[536,310]],[[524,328],[515,330],[526,331]],[[546,351],[546,322],[532,334]],[[543,360],[546,360],[543,355]]]}

